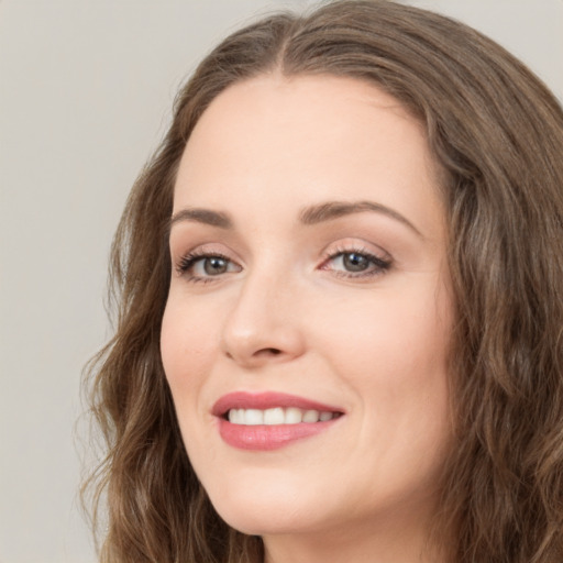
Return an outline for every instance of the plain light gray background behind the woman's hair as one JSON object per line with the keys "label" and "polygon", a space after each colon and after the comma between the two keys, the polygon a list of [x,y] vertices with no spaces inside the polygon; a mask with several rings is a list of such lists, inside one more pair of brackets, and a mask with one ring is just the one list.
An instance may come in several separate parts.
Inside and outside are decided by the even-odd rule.
{"label": "plain light gray background behind the woman's hair", "polygon": [[[178,86],[228,31],[306,0],[0,0],[0,563],[95,560],[76,506],[108,249]],[[563,0],[411,0],[489,34],[563,98]]]}

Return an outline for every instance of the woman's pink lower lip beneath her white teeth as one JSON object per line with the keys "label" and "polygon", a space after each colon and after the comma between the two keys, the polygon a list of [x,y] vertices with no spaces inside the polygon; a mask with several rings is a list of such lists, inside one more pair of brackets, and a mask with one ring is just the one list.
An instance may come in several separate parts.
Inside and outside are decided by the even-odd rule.
{"label": "woman's pink lower lip beneath her white teeth", "polygon": [[[341,418],[341,417],[339,417]],[[224,442],[240,450],[278,450],[292,442],[317,435],[328,430],[339,419],[298,424],[232,424],[219,419],[219,433]]]}

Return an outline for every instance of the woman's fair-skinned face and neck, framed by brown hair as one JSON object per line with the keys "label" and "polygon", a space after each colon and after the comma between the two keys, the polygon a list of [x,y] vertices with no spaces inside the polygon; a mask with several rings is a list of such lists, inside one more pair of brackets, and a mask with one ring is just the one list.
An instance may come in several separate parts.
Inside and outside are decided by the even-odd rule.
{"label": "woman's fair-skinned face and neck, framed by brown hair", "polygon": [[[163,363],[220,516],[267,563],[430,561],[452,302],[422,126],[350,78],[230,87],[187,143],[170,253]],[[227,420],[241,393],[330,420],[277,442],[290,424]]]}

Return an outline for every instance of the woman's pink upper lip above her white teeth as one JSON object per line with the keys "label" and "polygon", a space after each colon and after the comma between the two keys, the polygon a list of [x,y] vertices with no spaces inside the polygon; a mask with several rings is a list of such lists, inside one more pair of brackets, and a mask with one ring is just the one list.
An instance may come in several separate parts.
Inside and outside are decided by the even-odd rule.
{"label": "woman's pink upper lip above her white teeth", "polygon": [[342,408],[324,405],[316,400],[288,395],[286,393],[266,391],[249,393],[235,391],[223,395],[212,407],[211,412],[216,417],[222,417],[231,409],[272,409],[276,407],[295,407],[302,410],[318,410],[320,412],[341,412]]}

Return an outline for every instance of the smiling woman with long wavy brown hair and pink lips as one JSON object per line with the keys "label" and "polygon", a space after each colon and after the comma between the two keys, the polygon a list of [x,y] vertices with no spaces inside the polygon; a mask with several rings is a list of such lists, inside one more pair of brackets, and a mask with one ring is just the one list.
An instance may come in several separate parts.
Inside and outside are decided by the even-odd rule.
{"label": "smiling woman with long wavy brown hair and pink lips", "polygon": [[114,242],[102,561],[561,561],[562,155],[547,88],[443,16],[219,45]]}

